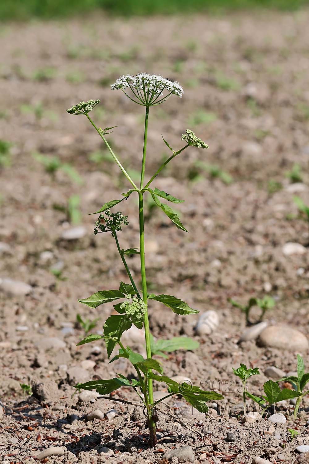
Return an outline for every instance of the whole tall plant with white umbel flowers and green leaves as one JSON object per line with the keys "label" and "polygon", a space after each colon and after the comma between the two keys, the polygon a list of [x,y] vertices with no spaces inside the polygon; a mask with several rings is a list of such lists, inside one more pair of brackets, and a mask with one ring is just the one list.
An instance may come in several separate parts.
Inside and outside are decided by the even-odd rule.
{"label": "whole tall plant with white umbel flowers and green leaves", "polygon": [[[149,443],[151,446],[155,446],[157,442],[156,406],[159,401],[155,401],[153,399],[153,380],[166,384],[168,388],[166,398],[174,394],[181,393],[184,399],[200,412],[208,411],[206,404],[208,400],[219,400],[222,398],[222,396],[218,393],[204,391],[199,387],[192,387],[186,384],[179,385],[176,381],[164,375],[161,363],[153,359],[152,356],[154,354],[165,356],[164,352],[169,353],[179,348],[196,348],[196,343],[193,341],[189,342],[189,340],[184,340],[183,337],[176,337],[170,341],[159,340],[154,342],[149,329],[148,303],[152,301],[158,301],[178,315],[196,314],[198,311],[196,309],[190,308],[187,303],[177,298],[176,296],[149,294],[147,291],[145,269],[144,196],[150,195],[155,205],[166,214],[166,216],[172,221],[173,224],[175,224],[178,229],[184,232],[188,232],[180,221],[177,213],[173,211],[173,209],[166,203],[168,202],[177,204],[181,203],[183,200],[179,200],[170,193],[166,193],[156,187],[152,187],[151,184],[156,179],[161,170],[168,163],[170,163],[170,161],[180,155],[183,150],[190,146],[196,148],[208,148],[208,145],[200,138],[196,137],[194,132],[190,129],[187,129],[183,134],[182,140],[185,142],[185,144],[178,150],[173,150],[169,143],[163,139],[164,143],[170,149],[172,154],[166,161],[162,163],[162,165],[157,169],[150,180],[145,182],[144,179],[149,110],[153,106],[158,106],[161,103],[164,103],[172,95],[182,97],[183,89],[176,82],[171,82],[164,77],[149,75],[145,73],[134,77],[129,75],[120,77],[117,79],[115,84],[112,85],[112,89],[121,90],[134,103],[145,107],[144,145],[141,161],[141,171],[139,175],[139,186],[135,184],[131,176],[128,174],[125,168],[123,168],[118,159],[118,156],[115,155],[113,149],[105,138],[105,135],[107,135],[110,129],[113,128],[98,128],[89,116],[89,112],[93,110],[98,103],[100,103],[100,100],[80,102],[69,108],[67,111],[70,114],[85,115],[88,118],[99,136],[102,138],[108,151],[124,174],[126,180],[131,184],[130,190],[128,190],[126,193],[122,193],[121,199],[107,201],[107,203],[105,203],[99,211],[94,213],[99,214],[99,217],[95,223],[95,234],[111,232],[115,239],[120,258],[125,266],[130,284],[121,282],[118,290],[99,290],[88,298],[79,300],[81,303],[88,305],[90,308],[97,308],[101,304],[118,301],[116,304],[114,304],[114,309],[118,314],[109,316],[107,318],[103,327],[103,335],[88,335],[79,343],[79,345],[98,339],[104,339],[108,358],[111,357],[114,349],[116,346],[118,346],[119,352],[112,357],[110,362],[113,362],[120,357],[128,359],[132,363],[132,366],[136,372],[136,378],[129,380],[125,376],[117,374],[118,376],[114,377],[113,379],[93,380],[84,384],[79,384],[76,387],[79,389],[83,388],[88,390],[96,389],[96,391],[101,395],[108,395],[109,393],[114,392],[122,386],[132,387],[132,389],[138,394],[140,400],[145,405],[147,423],[150,431]],[[120,246],[118,232],[120,232],[122,228],[128,224],[127,216],[122,215],[120,212],[112,213],[111,208],[119,204],[121,201],[127,200],[132,193],[137,194],[139,199],[139,248],[130,248],[124,250]],[[141,291],[138,289],[126,261],[126,257],[132,254],[140,255],[142,282]],[[121,301],[119,302],[119,300]],[[138,329],[144,328],[146,345],[145,359],[141,354],[134,353],[130,347],[125,347],[121,342],[122,334],[126,330],[130,329],[132,324],[135,325]]]}

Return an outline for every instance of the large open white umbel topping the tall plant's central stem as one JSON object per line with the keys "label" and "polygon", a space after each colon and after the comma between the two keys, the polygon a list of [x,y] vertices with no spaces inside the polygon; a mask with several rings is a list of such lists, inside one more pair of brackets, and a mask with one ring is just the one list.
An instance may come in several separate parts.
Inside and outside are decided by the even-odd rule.
{"label": "large open white umbel topping the tall plant's central stem", "polygon": [[163,103],[170,95],[182,97],[183,88],[180,84],[170,81],[157,74],[147,74],[141,72],[136,76],[127,74],[118,77],[111,86],[112,90],[123,90],[127,97],[131,98],[125,90],[131,90],[134,97],[131,98],[135,103],[144,106],[155,106]]}

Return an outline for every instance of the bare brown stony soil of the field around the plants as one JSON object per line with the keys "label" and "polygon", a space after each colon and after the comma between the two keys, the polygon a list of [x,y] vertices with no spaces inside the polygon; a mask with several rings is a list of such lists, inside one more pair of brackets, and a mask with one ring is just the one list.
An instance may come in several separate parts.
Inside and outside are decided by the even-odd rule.
{"label": "bare brown stony soil of the field around the plants", "polygon": [[[189,445],[195,462],[249,463],[264,456],[292,463],[296,446],[309,445],[308,398],[294,422],[292,406],[283,405],[288,422],[276,425],[281,438],[265,433],[267,420],[241,423],[241,405],[240,411],[233,409],[242,395],[233,384],[232,367],[240,362],[260,367],[263,374],[249,382],[252,393],[259,394],[265,369],[295,371],[296,352],[288,338],[284,348],[260,348],[255,340],[237,343],[245,318],[227,302],[229,297],[246,303],[251,296],[270,294],[276,306],[266,319],[309,336],[309,230],[293,202],[299,194],[309,204],[308,21],[303,11],[127,20],[98,15],[2,26],[0,136],[13,147],[11,166],[0,167],[0,277],[31,286],[19,296],[14,295],[17,287],[10,292],[2,281],[0,293],[3,462],[30,464],[45,448],[64,446],[65,454],[49,462],[96,464],[105,462],[98,450],[106,446],[113,451],[108,462],[165,463],[165,452]],[[161,134],[173,148],[181,148],[181,135],[191,128],[210,147],[188,149],[154,183],[186,199],[177,209],[189,234],[149,203],[149,290],[178,296],[201,313],[214,309],[220,317],[211,335],[197,336],[198,316],[177,316],[151,304],[151,330],[158,338],[195,337],[200,348],[170,354],[165,373],[225,395],[221,409],[206,418],[183,415],[179,421],[175,414],[183,400],[170,403],[174,416],[160,415],[158,433],[164,438],[155,450],[147,448],[139,409],[133,412],[112,399],[72,397],[76,381],[133,374],[123,360],[108,364],[103,345],[76,347],[84,335],[76,314],[98,317],[95,330],[100,330],[113,310],[112,304],[91,310],[77,299],[127,281],[114,239],[94,237],[95,216],[87,214],[120,198],[129,185],[86,118],[65,110],[77,101],[101,98],[93,118],[102,127],[119,126],[109,140],[134,176],[141,162],[143,109],[109,85],[123,73],[140,71],[176,79],[185,90],[182,100],[173,97],[151,110],[147,176],[168,155]],[[35,152],[71,163],[82,183],[62,170],[55,176],[46,173]],[[212,179],[198,160],[219,165],[233,182]],[[286,172],[295,163],[302,179],[291,184]],[[72,227],[66,208],[73,194],[80,197],[86,232],[65,240],[63,232]],[[132,195],[122,205],[130,225],[120,233],[120,245],[137,247],[137,201]],[[284,255],[287,242],[303,245],[303,254]],[[138,275],[139,257],[129,262]],[[60,278],[51,269],[60,270]],[[143,354],[139,333],[127,343]],[[308,350],[302,354],[309,366]],[[20,383],[31,382],[36,396],[28,397]],[[116,396],[136,401],[126,389]],[[91,411],[111,408],[117,410],[113,419],[85,419]],[[292,442],[288,428],[300,432]],[[227,432],[234,433],[234,442],[226,441]],[[275,450],[271,457],[272,451],[265,451],[269,447]]]}

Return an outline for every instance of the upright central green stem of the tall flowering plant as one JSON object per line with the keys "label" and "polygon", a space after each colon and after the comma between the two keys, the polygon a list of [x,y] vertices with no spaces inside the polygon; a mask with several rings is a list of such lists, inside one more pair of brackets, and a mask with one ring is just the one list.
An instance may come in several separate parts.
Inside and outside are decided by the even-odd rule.
{"label": "upright central green stem of the tall flowering plant", "polygon": [[[144,200],[143,200],[143,189],[144,176],[145,176],[145,165],[146,165],[146,148],[147,148],[147,133],[148,133],[148,117],[149,117],[149,107],[146,106],[145,114],[145,130],[144,130],[144,148],[143,148],[143,161],[142,161],[142,171],[140,175],[140,187],[139,187],[139,248],[140,248],[140,271],[142,278],[142,289],[143,289],[143,302],[146,305],[146,311],[144,313],[144,331],[145,331],[145,343],[146,343],[146,354],[147,358],[151,358],[151,342],[150,342],[150,329],[149,329],[149,317],[148,317],[148,308],[147,308],[147,281],[146,281],[146,267],[145,267],[145,237],[144,237]],[[148,372],[146,374],[146,378]],[[147,404],[147,414],[148,414],[148,426],[150,432],[150,445],[154,447],[157,443],[156,436],[156,424],[153,420],[153,387],[152,379],[147,380],[148,383],[148,399],[146,400]],[[145,391],[145,396],[147,392]]]}

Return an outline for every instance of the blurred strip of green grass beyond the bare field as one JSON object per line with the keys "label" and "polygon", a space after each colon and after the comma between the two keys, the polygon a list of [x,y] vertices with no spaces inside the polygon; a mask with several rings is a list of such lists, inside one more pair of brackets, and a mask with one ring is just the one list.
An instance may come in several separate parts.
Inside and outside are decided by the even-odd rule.
{"label": "blurred strip of green grass beyond the bare field", "polygon": [[0,2],[0,20],[59,18],[101,8],[119,15],[151,15],[234,11],[252,7],[296,10],[309,0],[6,0]]}

